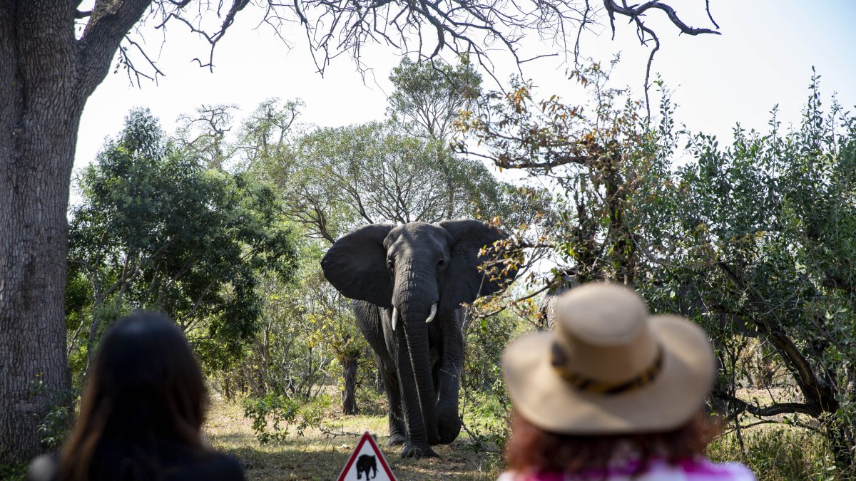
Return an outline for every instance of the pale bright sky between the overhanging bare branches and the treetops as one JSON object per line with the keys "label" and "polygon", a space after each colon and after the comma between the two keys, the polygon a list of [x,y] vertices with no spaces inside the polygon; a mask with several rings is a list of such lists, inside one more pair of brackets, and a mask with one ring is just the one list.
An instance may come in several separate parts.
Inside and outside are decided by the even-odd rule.
{"label": "pale bright sky between the overhanging bare branches and the treetops", "polygon": [[[711,27],[703,0],[670,4],[690,25]],[[383,118],[389,70],[400,58],[393,47],[365,50],[364,61],[374,68],[373,78],[370,75],[365,84],[348,56],[337,58],[322,78],[299,35],[291,35],[294,46],[288,50],[264,27],[253,30],[251,9],[241,13],[250,15],[237,16],[217,47],[213,74],[191,62],[194,56],[205,55],[205,46],[178,24],[172,26],[163,50],[160,37],[149,35],[151,50],[155,56],[159,52],[159,66],[167,76],[158,85],[144,82],[140,89],[128,85],[122,70],[109,74],[86,104],[75,168],[91,162],[105,137],[116,135],[128,110],[137,106],[151,109],[168,132],[177,116],[201,104],[237,104],[240,118],[271,97],[302,98],[306,103],[302,122],[322,126]],[[678,122],[693,131],[727,137],[735,122],[766,128],[774,104],[780,105],[780,120],[799,122],[812,65],[822,75],[824,98],[837,92],[841,104],[854,110],[856,0],[710,0],[710,9],[722,35],[679,37],[660,12],[649,15],[662,41],[653,70],[674,91]],[[582,53],[608,61],[621,51],[621,66],[613,79],[616,85],[641,93],[647,50],[639,45],[632,26],[620,21],[616,27],[614,41],[607,27],[586,35]],[[538,45],[535,39],[528,43]],[[496,64],[497,78],[505,80],[513,73],[507,56],[496,56]],[[527,63],[524,74],[545,96],[556,93],[573,101],[575,90],[565,80],[567,67],[549,58]]]}

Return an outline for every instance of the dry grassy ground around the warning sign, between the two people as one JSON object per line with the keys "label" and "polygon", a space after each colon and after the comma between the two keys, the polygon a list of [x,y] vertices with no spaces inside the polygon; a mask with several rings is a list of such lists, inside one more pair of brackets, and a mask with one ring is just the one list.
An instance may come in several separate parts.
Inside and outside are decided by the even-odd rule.
{"label": "dry grassy ground around the warning sign, between the two people", "polygon": [[[334,432],[376,433],[383,455],[401,480],[492,480],[502,467],[499,454],[477,452],[463,432],[452,444],[434,447],[438,458],[405,460],[399,455],[400,448],[384,447],[389,435],[386,416],[336,416],[326,419],[324,425]],[[205,433],[214,448],[241,460],[251,481],[336,479],[360,437],[311,430],[305,436],[289,435],[287,442],[263,446],[253,436],[240,404],[226,401],[215,401],[211,406]]]}

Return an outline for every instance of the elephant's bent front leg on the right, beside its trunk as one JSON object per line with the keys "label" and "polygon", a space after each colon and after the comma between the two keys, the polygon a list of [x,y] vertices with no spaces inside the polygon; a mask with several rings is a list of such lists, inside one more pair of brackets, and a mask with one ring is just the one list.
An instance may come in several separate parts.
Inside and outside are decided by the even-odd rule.
{"label": "elephant's bent front leg on the right, beside its trunk", "polygon": [[461,432],[458,395],[461,388],[461,369],[464,365],[462,314],[461,310],[455,311],[443,329],[443,350],[437,384],[437,434],[443,444],[455,441]]}

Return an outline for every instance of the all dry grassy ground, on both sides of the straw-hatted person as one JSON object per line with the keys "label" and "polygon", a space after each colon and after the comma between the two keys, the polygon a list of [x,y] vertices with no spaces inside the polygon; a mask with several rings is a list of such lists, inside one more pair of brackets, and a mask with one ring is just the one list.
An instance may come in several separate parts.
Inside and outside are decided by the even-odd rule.
{"label": "all dry grassy ground, on both sides of the straw-hatted person", "polygon": [[[742,392],[742,396],[760,402],[788,398],[788,393],[774,389]],[[385,403],[383,403],[385,404]],[[368,405],[364,407],[369,407]],[[253,436],[251,424],[243,416],[240,403],[214,400],[205,432],[211,444],[235,455],[247,470],[250,480],[274,479],[335,479],[351,454],[363,431],[377,434],[395,476],[403,480],[463,479],[493,480],[502,470],[502,458],[496,452],[478,451],[466,432],[448,446],[436,446],[438,458],[427,460],[401,459],[400,448],[385,448],[388,437],[383,407],[373,416],[342,416],[330,413],[324,420],[326,431],[351,433],[333,436],[318,429],[306,431],[305,436],[289,434],[279,444],[261,445]],[[467,416],[472,416],[471,411]],[[469,419],[471,427],[485,419]],[[811,425],[811,419],[800,419]],[[751,425],[746,417],[743,425]],[[742,442],[734,432],[713,442],[709,455],[716,461],[738,461],[749,466],[762,481],[789,479],[847,479],[832,464],[829,448],[819,433],[788,425],[757,425],[742,431]]]}

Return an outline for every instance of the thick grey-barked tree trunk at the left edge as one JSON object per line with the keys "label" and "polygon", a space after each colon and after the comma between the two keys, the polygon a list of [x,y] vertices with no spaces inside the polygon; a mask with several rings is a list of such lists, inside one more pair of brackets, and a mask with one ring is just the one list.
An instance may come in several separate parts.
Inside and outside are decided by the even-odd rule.
{"label": "thick grey-barked tree trunk at the left edge", "polygon": [[0,462],[40,449],[38,426],[70,388],[66,211],[86,98],[148,1],[0,2]]}

